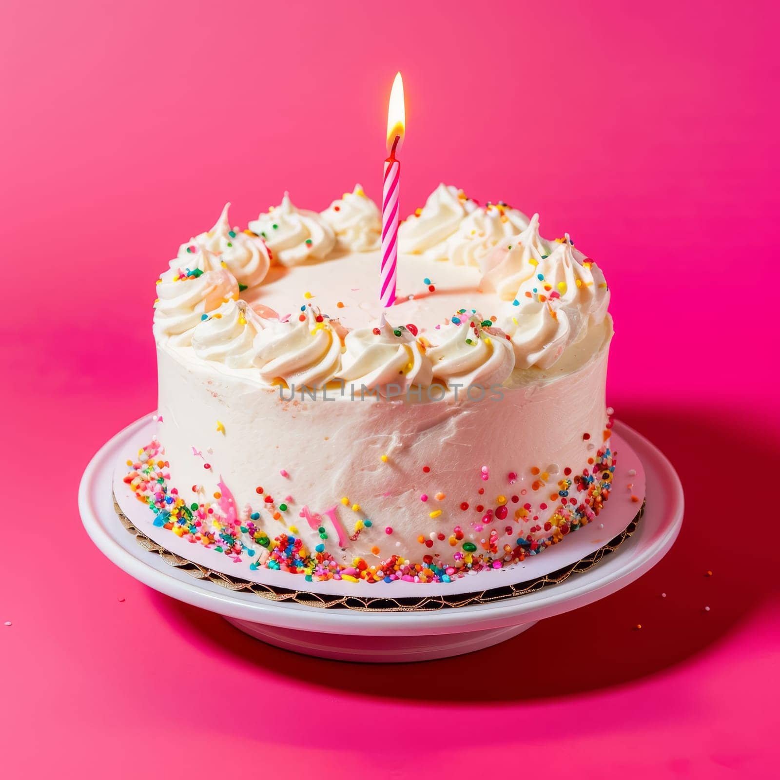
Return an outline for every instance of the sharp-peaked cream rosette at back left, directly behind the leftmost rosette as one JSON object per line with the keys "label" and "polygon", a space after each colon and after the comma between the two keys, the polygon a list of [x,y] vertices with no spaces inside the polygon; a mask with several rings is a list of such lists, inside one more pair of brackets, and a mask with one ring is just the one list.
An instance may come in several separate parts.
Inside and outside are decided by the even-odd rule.
{"label": "sharp-peaked cream rosette at back left, directly behind the leftmost rosette", "polygon": [[268,247],[259,236],[230,227],[229,207],[229,203],[225,204],[211,230],[200,233],[179,247],[179,254],[171,261],[171,268],[190,264],[193,255],[197,254],[200,247],[204,247],[236,277],[241,289],[254,287],[263,281],[271,266]]}

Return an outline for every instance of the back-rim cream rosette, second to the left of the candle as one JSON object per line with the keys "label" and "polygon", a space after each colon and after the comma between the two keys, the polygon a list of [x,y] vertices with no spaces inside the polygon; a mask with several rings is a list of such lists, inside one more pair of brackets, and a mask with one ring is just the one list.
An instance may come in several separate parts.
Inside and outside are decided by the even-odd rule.
{"label": "back-rim cream rosette, second to the left of the candle", "polygon": [[285,193],[282,203],[249,223],[264,239],[275,260],[282,265],[300,265],[322,260],[335,246],[335,233],[317,211],[298,209]]}

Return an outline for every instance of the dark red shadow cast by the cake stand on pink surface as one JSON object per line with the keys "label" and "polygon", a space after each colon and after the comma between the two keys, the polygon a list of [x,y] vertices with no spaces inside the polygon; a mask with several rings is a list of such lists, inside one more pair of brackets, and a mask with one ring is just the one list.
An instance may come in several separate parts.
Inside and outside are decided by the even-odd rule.
{"label": "dark red shadow cast by the cake stand on pink surface", "polygon": [[[493,679],[498,669],[509,672],[511,683],[487,688],[480,683],[481,690],[490,692],[486,704],[587,693],[664,672],[706,653],[762,601],[777,595],[773,551],[760,543],[750,522],[755,512],[760,523],[764,499],[760,492],[750,495],[749,488],[734,484],[750,473],[753,463],[761,464],[753,470],[773,473],[773,465],[780,467],[780,454],[774,441],[746,442],[745,431],[761,431],[761,422],[751,420],[749,411],[735,418],[733,409],[648,410],[622,404],[620,410],[619,419],[647,434],[678,470],[686,495],[679,538],[658,566],[628,587],[541,621],[512,640],[441,661],[381,668],[353,664],[346,675],[339,661],[278,650],[218,615],[157,593],[151,599],[180,633],[248,672],[289,676],[378,699],[406,699],[408,692],[419,691],[429,703],[463,702],[464,688],[457,681]],[[747,533],[740,533],[746,520]]]}

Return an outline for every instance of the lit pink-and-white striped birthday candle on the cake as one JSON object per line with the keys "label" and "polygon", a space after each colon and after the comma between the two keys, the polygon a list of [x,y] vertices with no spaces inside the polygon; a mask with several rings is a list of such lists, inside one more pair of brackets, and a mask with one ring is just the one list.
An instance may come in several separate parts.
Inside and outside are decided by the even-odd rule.
{"label": "lit pink-and-white striped birthday candle on the cake", "polygon": [[387,146],[390,156],[385,160],[385,185],[382,188],[382,265],[380,273],[382,307],[395,301],[395,276],[398,261],[398,216],[401,163],[395,158],[403,143],[406,109],[403,104],[403,81],[395,74],[388,105]]}

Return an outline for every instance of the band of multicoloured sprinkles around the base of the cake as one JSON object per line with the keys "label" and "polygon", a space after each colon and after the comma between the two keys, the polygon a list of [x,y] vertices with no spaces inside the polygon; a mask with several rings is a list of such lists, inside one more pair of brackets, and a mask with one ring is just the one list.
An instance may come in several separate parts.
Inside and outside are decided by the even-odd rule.
{"label": "band of multicoloured sprinkles around the base of the cake", "polygon": [[[197,452],[193,449],[193,453]],[[208,488],[193,485],[195,495],[188,494],[192,498],[186,501],[176,488],[168,484],[168,462],[158,441],[153,441],[140,450],[137,458],[128,460],[129,471],[124,480],[137,498],[153,512],[154,526],[171,530],[176,536],[186,538],[186,541],[202,544],[215,552],[228,555],[232,562],[246,562],[252,571],[261,568],[278,569],[303,574],[309,581],[341,579],[347,582],[369,583],[398,580],[450,582],[468,572],[501,569],[523,561],[529,555],[538,555],[552,544],[557,544],[567,534],[593,522],[612,489],[615,456],[605,444],[594,452],[589,461],[591,465],[575,475],[571,475],[570,469],[560,470],[557,464],[551,464],[544,472],[534,466],[531,470],[537,477],[534,489],[541,489],[544,481],[550,479],[551,473],[562,476],[560,480],[554,477],[555,483],[545,489],[540,497],[542,500],[537,499],[536,505],[533,500],[520,504],[523,499],[519,498],[519,495],[509,497],[499,494],[491,500],[486,496],[483,501],[488,505],[476,505],[478,519],[476,522],[471,520],[466,523],[466,531],[459,525],[441,530],[431,530],[428,527],[424,534],[417,537],[417,541],[424,547],[424,555],[419,562],[406,560],[399,555],[389,555],[372,564],[356,557],[353,558],[351,566],[338,562],[328,552],[328,545],[338,544],[343,551],[349,546],[349,541],[355,541],[358,535],[371,534],[374,523],[370,519],[357,517],[354,521],[354,532],[349,535],[335,507],[320,515],[306,514],[304,506],[306,512],[302,510],[300,516],[307,517],[311,529],[318,537],[316,545],[307,548],[295,525],[290,525],[288,531],[282,534],[278,534],[276,530],[271,533],[264,528],[266,523],[271,523],[273,527],[276,521],[284,522],[282,512],[289,511],[289,502],[292,501],[290,497],[276,505],[274,498],[265,495],[264,488],[257,486],[255,492],[262,497],[262,501],[257,499],[260,506],[253,508],[246,505],[239,512],[228,487],[220,480],[218,490],[211,488],[209,491]],[[204,468],[211,470],[211,464],[204,463]],[[431,466],[426,465],[422,469],[424,473],[431,472]],[[480,466],[480,476],[484,477],[488,472],[488,466]],[[284,475],[285,471],[280,470],[280,473]],[[516,476],[515,472],[509,472],[510,483]],[[526,492],[525,489],[519,491],[521,495],[526,495]],[[485,488],[479,488],[477,493],[484,495]],[[205,495],[213,495],[214,503],[202,500]],[[438,501],[445,500],[445,494],[441,491],[431,495]],[[420,498],[430,501],[428,494],[420,494]],[[350,502],[347,496],[341,498],[341,503],[353,512],[362,512],[360,505]],[[517,506],[512,508],[512,522],[507,525],[508,507],[512,504]],[[470,502],[459,502],[459,506],[466,512],[470,509]],[[258,511],[263,507],[268,509],[268,512]],[[431,519],[443,515],[443,509],[429,512]],[[376,534],[378,530],[373,533]],[[394,533],[391,525],[385,526],[384,530],[386,535]],[[466,536],[472,533],[478,536]],[[329,541],[331,538],[333,541]],[[434,545],[440,543],[444,544],[446,549],[452,549],[452,563],[446,563],[439,558],[441,548],[438,551],[433,549]],[[459,549],[456,549],[458,547]],[[369,537],[364,549],[371,550],[371,555],[379,557],[375,539]],[[340,555],[342,553],[339,553]],[[711,576],[711,571],[707,571],[707,576]]]}

